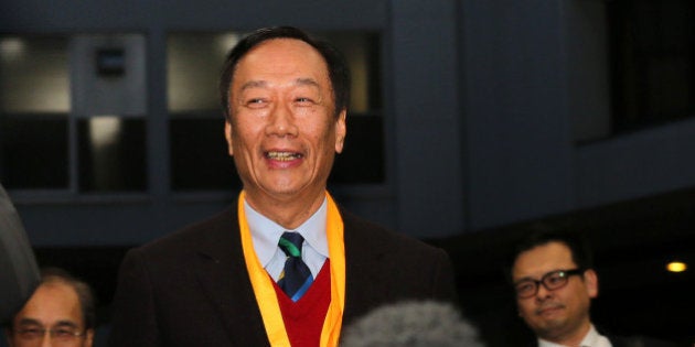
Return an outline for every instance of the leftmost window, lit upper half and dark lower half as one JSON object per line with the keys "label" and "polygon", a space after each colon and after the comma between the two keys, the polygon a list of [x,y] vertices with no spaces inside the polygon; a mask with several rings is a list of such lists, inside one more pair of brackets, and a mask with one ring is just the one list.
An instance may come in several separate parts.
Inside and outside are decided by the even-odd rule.
{"label": "leftmost window, lit upper half and dark lower half", "polygon": [[67,188],[67,39],[0,35],[0,181]]}

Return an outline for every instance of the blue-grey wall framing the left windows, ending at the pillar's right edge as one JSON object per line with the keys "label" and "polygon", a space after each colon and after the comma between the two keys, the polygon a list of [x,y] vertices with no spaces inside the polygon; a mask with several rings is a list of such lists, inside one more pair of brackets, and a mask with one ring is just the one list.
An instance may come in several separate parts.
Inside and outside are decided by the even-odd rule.
{"label": "blue-grey wall framing the left windows, ending at the pillar's right edge", "polygon": [[173,194],[169,188],[168,143],[177,139],[162,131],[168,129],[167,34],[279,24],[377,31],[383,37],[387,177],[383,184],[336,187],[339,200],[414,236],[440,237],[464,229],[455,2],[30,0],[3,7],[2,33],[126,32],[147,37],[148,192],[108,196],[11,192],[36,247],[137,245],[232,204],[233,192]]}

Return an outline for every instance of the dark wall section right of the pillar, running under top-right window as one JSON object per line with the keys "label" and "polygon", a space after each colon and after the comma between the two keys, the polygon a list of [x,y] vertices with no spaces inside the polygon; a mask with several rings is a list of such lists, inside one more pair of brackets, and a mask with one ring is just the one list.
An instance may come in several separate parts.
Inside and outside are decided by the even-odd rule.
{"label": "dark wall section right of the pillar, running under top-right window", "polygon": [[695,184],[692,119],[607,138],[606,15],[603,1],[461,2],[469,230]]}

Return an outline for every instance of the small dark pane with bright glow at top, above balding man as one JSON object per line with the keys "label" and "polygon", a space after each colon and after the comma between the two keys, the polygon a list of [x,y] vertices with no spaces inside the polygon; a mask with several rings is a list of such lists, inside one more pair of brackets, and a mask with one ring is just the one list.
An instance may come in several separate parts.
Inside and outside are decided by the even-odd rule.
{"label": "small dark pane with bright glow at top, above balding man", "polygon": [[145,120],[77,120],[81,192],[142,192],[147,187]]}

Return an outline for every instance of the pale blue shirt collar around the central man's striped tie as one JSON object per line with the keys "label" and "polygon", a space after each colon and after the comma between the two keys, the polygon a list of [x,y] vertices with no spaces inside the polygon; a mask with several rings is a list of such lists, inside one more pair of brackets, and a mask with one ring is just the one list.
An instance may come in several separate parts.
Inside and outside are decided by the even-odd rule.
{"label": "pale blue shirt collar around the central man's striped tie", "polygon": [[[246,200],[244,200],[244,212],[246,213],[246,220],[252,234],[254,250],[256,251],[258,261],[260,261],[260,264],[265,268],[272,259],[282,232],[291,230],[285,229],[279,224],[261,215],[250,207]],[[307,221],[300,225],[296,231],[304,238],[311,248],[328,258],[328,238],[325,236],[328,200],[324,198],[321,207],[319,207]]]}

